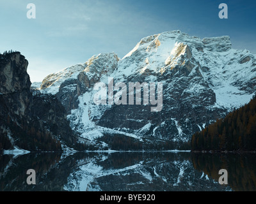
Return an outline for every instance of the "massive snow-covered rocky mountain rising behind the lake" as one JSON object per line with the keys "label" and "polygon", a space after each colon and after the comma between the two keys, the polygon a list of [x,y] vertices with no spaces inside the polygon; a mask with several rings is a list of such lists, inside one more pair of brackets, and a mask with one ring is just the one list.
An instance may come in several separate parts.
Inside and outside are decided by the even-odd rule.
{"label": "massive snow-covered rocky mountain rising behind the lake", "polygon": [[[127,87],[129,82],[163,83],[163,108],[152,112],[150,103],[96,105],[93,96],[98,91],[93,87],[97,82],[108,87],[109,78]],[[256,56],[232,49],[228,36],[200,39],[170,31],[141,39],[122,59],[115,53],[93,55],[84,64],[47,76],[37,89],[56,95],[71,128],[88,142],[106,134],[186,142],[248,103],[255,84]],[[108,140],[102,141],[108,146]]]}

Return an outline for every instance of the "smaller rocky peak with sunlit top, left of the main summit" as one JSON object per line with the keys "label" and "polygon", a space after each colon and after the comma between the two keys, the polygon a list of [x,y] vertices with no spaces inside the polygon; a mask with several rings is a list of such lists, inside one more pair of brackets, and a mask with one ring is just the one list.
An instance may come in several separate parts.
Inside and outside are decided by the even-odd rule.
{"label": "smaller rocky peak with sunlit top, left of the main summit", "polygon": [[79,96],[83,95],[103,76],[112,73],[118,64],[114,53],[93,56],[84,64],[77,64],[47,76],[41,85],[42,93],[56,94],[68,113],[78,108]]}

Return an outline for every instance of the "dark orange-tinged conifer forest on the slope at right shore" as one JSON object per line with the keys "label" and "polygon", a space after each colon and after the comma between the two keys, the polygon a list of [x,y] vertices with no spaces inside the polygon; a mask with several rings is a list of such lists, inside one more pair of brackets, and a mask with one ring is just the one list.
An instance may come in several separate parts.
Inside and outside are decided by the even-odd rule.
{"label": "dark orange-tinged conifer forest on the slope at right shore", "polygon": [[256,150],[256,96],[191,138],[191,150]]}

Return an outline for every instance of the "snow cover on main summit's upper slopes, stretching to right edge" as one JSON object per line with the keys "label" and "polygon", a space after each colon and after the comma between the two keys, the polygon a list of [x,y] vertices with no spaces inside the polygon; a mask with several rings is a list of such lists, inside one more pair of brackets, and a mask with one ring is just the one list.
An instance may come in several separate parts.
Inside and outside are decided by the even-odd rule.
{"label": "snow cover on main summit's upper slopes, stretching to right edge", "polygon": [[[194,61],[191,60],[191,52]],[[182,56],[185,54],[187,57],[184,60]],[[246,62],[244,59],[252,60]],[[140,73],[150,69],[163,74],[166,69],[182,65],[188,60],[191,63],[195,62],[193,65],[199,64],[200,73],[216,94],[216,106],[241,106],[252,98],[254,89],[246,85],[247,79],[256,77],[256,74],[252,73],[255,68],[255,56],[248,50],[232,49],[228,36],[200,40],[180,31],[149,36],[143,38],[129,54],[125,55],[120,66],[124,67],[124,73],[136,73],[135,62],[135,67]],[[129,68],[131,71],[126,71]],[[118,76],[116,73],[113,75]],[[244,87],[237,88],[237,83]]]}

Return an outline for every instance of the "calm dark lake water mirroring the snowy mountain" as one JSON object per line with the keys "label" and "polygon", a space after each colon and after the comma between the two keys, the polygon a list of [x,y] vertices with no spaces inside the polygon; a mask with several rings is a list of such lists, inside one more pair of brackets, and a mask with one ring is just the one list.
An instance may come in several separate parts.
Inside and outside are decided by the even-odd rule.
{"label": "calm dark lake water mirroring the snowy mountain", "polygon": [[[255,191],[255,154],[45,153],[0,156],[0,191]],[[220,185],[220,169],[228,185]],[[28,185],[26,171],[36,171]]]}

